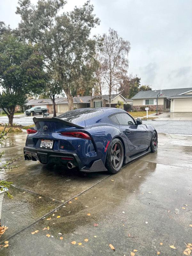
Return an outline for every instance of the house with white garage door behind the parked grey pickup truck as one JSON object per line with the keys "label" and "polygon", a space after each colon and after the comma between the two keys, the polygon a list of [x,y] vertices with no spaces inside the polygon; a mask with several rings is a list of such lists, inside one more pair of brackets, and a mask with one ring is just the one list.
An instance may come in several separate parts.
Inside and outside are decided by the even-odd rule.
{"label": "house with white garage door behind the parked grey pickup truck", "polygon": [[[55,108],[57,112],[57,101],[60,99],[55,99]],[[26,104],[27,108],[32,108],[32,107],[41,107],[41,108],[48,108],[49,113],[53,113],[53,103],[51,99],[38,99],[38,100],[29,100]],[[26,109],[27,109],[26,108]]]}

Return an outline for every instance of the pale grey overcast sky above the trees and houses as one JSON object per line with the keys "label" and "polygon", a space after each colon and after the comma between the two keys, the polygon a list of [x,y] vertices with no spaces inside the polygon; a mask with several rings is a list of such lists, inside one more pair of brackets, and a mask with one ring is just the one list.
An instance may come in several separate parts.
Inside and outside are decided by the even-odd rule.
{"label": "pale grey overcast sky above the trees and houses", "polygon": [[[17,27],[17,0],[0,0],[0,20]],[[36,3],[37,0],[31,2]],[[68,0],[64,10],[83,0]],[[100,26],[111,27],[131,43],[128,73],[141,77],[152,89],[192,87],[191,0],[91,0]]]}

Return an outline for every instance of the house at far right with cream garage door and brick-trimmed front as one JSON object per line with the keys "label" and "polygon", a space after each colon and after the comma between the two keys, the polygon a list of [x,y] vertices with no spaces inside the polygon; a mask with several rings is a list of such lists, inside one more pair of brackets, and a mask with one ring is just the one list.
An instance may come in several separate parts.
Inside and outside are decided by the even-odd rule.
{"label": "house at far right with cream garage door and brick-trimmed front", "polygon": [[132,110],[140,111],[148,107],[150,111],[155,111],[159,93],[161,93],[158,98],[159,111],[192,112],[192,88],[138,92],[132,97]]}

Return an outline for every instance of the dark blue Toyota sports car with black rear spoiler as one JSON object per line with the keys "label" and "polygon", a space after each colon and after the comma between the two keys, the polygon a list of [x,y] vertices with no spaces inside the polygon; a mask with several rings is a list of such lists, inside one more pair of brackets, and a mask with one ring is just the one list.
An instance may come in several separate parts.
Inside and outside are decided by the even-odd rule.
{"label": "dark blue Toyota sports car with black rear spoiler", "polygon": [[118,108],[80,108],[33,121],[24,156],[42,164],[116,173],[123,164],[157,149],[155,128]]}

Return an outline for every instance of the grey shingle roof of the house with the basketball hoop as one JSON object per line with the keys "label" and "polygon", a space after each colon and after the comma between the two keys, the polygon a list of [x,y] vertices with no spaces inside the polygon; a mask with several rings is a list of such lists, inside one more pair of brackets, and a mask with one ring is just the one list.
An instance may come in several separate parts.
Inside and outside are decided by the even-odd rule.
{"label": "grey shingle roof of the house with the basketball hoop", "polygon": [[[162,95],[159,98],[170,98],[173,95],[178,95],[180,93],[188,92],[192,90],[191,88],[178,88],[178,89],[166,89],[166,90],[161,90]],[[142,91],[138,92],[132,97],[132,100],[135,99],[149,99],[149,98],[156,98],[157,94],[160,92],[160,90],[156,91]]]}

